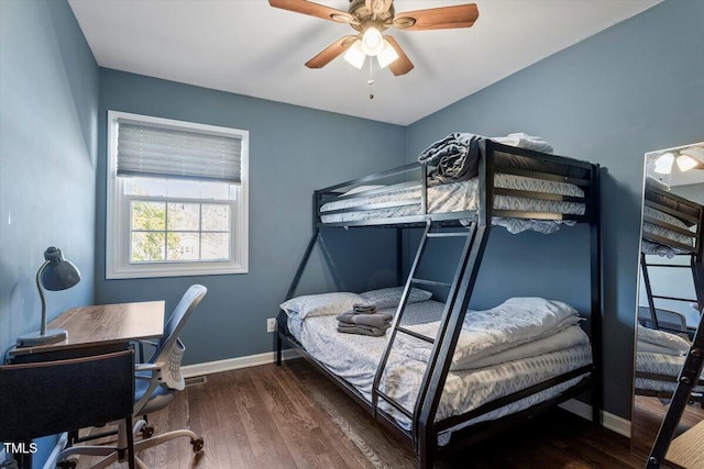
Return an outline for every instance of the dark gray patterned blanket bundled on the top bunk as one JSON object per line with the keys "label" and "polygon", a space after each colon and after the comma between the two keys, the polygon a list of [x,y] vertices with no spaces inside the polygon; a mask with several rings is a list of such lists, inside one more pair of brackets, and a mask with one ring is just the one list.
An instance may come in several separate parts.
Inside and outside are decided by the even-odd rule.
{"label": "dark gray patterned blanket bundled on the top bunk", "polygon": [[431,183],[468,180],[479,174],[480,136],[453,132],[433,143],[419,156],[421,165],[436,166],[428,178]]}

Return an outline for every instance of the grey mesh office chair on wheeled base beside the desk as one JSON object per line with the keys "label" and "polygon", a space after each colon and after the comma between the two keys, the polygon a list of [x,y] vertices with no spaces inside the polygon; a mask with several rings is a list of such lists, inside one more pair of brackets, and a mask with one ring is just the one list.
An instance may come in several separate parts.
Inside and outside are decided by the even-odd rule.
{"label": "grey mesh office chair on wheeled base beside the desk", "polygon": [[[164,326],[162,338],[153,344],[155,349],[151,358],[144,364],[135,365],[135,392],[132,415],[145,415],[166,407],[174,400],[176,393],[185,388],[185,380],[180,375],[180,361],[186,347],[178,336],[207,292],[208,289],[206,287],[194,284],[184,293]],[[119,459],[120,442],[125,439],[124,435],[136,435],[140,432],[150,437],[134,443],[135,453],[179,437],[188,437],[190,439],[194,453],[202,449],[202,438],[190,429],[177,429],[151,436],[152,432],[143,432],[145,425],[146,422],[144,420],[140,420],[132,428],[131,426],[125,427],[121,422],[118,427],[118,446],[77,445],[62,451],[59,460],[73,455],[105,456],[102,460],[92,466],[95,469],[105,468]],[[146,468],[146,465],[138,457],[135,457],[135,462],[139,467]]]}

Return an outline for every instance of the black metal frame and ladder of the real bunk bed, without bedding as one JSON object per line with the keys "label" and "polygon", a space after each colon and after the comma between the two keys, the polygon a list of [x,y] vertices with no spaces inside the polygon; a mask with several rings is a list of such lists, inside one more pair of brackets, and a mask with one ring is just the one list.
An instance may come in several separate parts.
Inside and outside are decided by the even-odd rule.
{"label": "black metal frame and ladder of the real bunk bed, without bedding", "polygon": [[[426,228],[424,238],[421,239],[416,259],[411,266],[411,272],[409,273],[402,297],[400,304],[394,324],[392,326],[391,336],[387,338],[387,348],[384,354],[382,362],[377,368],[376,377],[374,379],[372,402],[367,401],[353,386],[348,383],[340,377],[331,373],[323,365],[318,362],[311,357],[301,344],[290,335],[287,331],[286,315],[283,311],[278,313],[278,332],[276,337],[276,362],[282,364],[282,349],[284,344],[297,349],[299,354],[310,361],[318,370],[328,376],[333,382],[336,382],[344,392],[346,392],[354,401],[366,409],[378,422],[392,429],[398,435],[403,442],[405,442],[409,448],[415,450],[418,455],[418,464],[421,468],[432,466],[432,461],[436,458],[442,457],[446,454],[453,453],[458,449],[464,448],[468,445],[474,444],[494,433],[501,432],[504,428],[514,425],[526,418],[547,410],[554,405],[562,403],[569,399],[575,398],[586,391],[592,391],[592,418],[601,425],[601,410],[602,410],[602,268],[601,268],[601,235],[600,235],[600,167],[598,165],[565,158],[553,155],[546,155],[538,152],[528,149],[506,146],[497,144],[492,141],[481,141],[481,157],[479,161],[479,208],[473,211],[465,212],[451,212],[451,213],[428,213],[427,211],[427,177],[428,168],[418,164],[406,165],[399,168],[391,169],[388,171],[380,172],[372,176],[366,176],[358,179],[353,179],[340,185],[336,185],[326,189],[317,190],[312,198],[314,209],[314,233],[306,247],[304,256],[298,265],[294,279],[290,283],[286,299],[293,298],[298,282],[302,276],[306,264],[310,254],[312,253],[318,239],[321,235],[321,228],[331,226],[386,226],[395,227],[398,230],[397,236],[397,266],[399,279],[403,275],[402,267],[402,238],[400,230],[404,227],[424,227]],[[497,158],[497,155],[503,155],[503,158]],[[510,156],[513,159],[506,159],[505,156]],[[518,163],[516,163],[518,161]],[[522,161],[522,164],[521,164]],[[528,161],[528,166],[525,163]],[[342,223],[322,223],[320,221],[320,208],[323,203],[331,199],[339,199],[342,191],[345,188],[358,187],[384,178],[389,177],[403,177],[409,172],[417,171],[419,176],[416,176],[415,183],[421,185],[421,196],[415,200],[414,203],[419,203],[421,208],[421,214],[411,216],[402,216],[395,219],[377,219],[359,222],[342,222]],[[537,179],[569,182],[581,187],[585,196],[583,198],[574,198],[566,196],[553,196],[546,194],[543,192],[529,192],[514,189],[503,189],[494,187],[494,175],[497,172],[520,175],[526,177],[532,177]],[[420,178],[418,181],[417,178]],[[374,189],[366,191],[366,193],[373,193]],[[585,211],[582,215],[569,215],[561,213],[547,213],[547,212],[529,212],[529,211],[515,211],[515,210],[497,210],[494,209],[494,196],[515,196],[521,198],[543,199],[543,200],[561,200],[583,203]],[[344,196],[342,196],[344,197]],[[405,202],[404,202],[405,203]],[[342,211],[360,211],[360,210],[374,210],[380,208],[388,208],[394,205],[385,203],[366,204],[360,206],[352,206]],[[395,205],[399,205],[396,203]],[[324,212],[326,214],[334,212]],[[587,223],[590,225],[590,269],[591,269],[591,340],[592,340],[592,356],[593,362],[591,366],[582,367],[568,373],[554,377],[548,381],[538,383],[530,388],[514,392],[504,398],[496,399],[492,402],[487,402],[468,413],[462,415],[444,418],[440,422],[435,422],[436,411],[440,403],[442,390],[447,376],[450,370],[452,355],[457,345],[458,338],[461,332],[461,325],[464,320],[465,312],[472,298],[474,284],[479,275],[480,265],[484,254],[484,247],[492,228],[493,216],[505,217],[518,217],[518,219],[539,219],[539,220],[572,220],[578,223]],[[441,227],[461,226],[460,221],[470,220],[469,230],[466,230],[466,242],[464,244],[462,254],[459,259],[458,269],[454,275],[452,283],[446,284],[449,288],[448,298],[443,315],[440,322],[438,336],[432,340],[432,351],[424,379],[420,386],[419,395],[416,401],[416,406],[413,412],[405,407],[399,409],[393,399],[381,392],[378,388],[381,376],[386,366],[386,359],[389,350],[393,346],[395,334],[408,333],[408,330],[404,330],[400,323],[400,316],[405,310],[408,292],[411,283],[419,282],[425,284],[439,286],[441,282],[431,280],[416,279],[413,277],[415,269],[422,256],[425,244],[429,237],[446,237],[452,236],[449,233],[439,233]],[[418,338],[418,337],[417,337]],[[429,340],[431,342],[431,340]],[[519,411],[517,413],[501,417],[495,421],[483,422],[474,424],[459,431],[453,431],[451,440],[446,446],[439,446],[437,444],[437,436],[440,432],[443,432],[459,423],[466,422],[471,418],[499,409],[512,402],[516,402],[526,397],[532,395],[539,391],[552,388],[559,383],[566,382],[569,380],[580,378],[582,379],[576,386],[565,390],[559,395],[543,401],[539,404]],[[384,410],[380,409],[380,401],[385,401],[392,407],[398,410],[403,414],[409,416],[413,422],[410,431],[406,431],[399,426],[396,420]]]}

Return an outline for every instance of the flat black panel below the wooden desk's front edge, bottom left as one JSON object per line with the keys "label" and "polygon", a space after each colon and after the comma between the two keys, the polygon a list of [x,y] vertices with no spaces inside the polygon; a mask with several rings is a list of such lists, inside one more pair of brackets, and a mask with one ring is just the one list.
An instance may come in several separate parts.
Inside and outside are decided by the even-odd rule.
{"label": "flat black panel below the wooden desk's front edge, bottom left", "polygon": [[[133,403],[132,350],[1,366],[0,440],[29,442],[116,421],[130,427]],[[116,460],[125,457],[133,469],[131,434],[124,435]]]}

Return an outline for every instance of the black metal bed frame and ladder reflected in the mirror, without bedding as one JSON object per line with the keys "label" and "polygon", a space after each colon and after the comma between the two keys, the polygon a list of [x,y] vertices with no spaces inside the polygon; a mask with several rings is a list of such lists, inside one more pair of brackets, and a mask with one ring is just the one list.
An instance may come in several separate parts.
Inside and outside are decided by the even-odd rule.
{"label": "black metal bed frame and ladder reflected in the mirror, without bedding", "polygon": [[[664,199],[669,199],[672,203],[661,203]],[[681,252],[679,256],[689,256],[690,265],[678,264],[648,264],[645,255],[641,254],[641,271],[644,275],[644,283],[646,287],[646,293],[648,297],[648,306],[651,311],[652,323],[658,328],[658,317],[656,314],[654,299],[675,300],[695,302],[698,305],[700,313],[704,310],[704,205],[693,202],[689,199],[680,196],[666,192],[658,188],[646,187],[645,205],[666,212],[679,220],[689,222],[692,225],[696,225],[694,231],[683,230],[679,226],[654,220],[652,217],[644,216],[644,222],[649,222],[674,232],[689,236],[692,239],[691,244],[678,243],[672,239],[653,235],[644,231],[642,237],[645,239],[658,243],[664,246],[676,248]],[[648,276],[648,267],[664,267],[664,268],[690,268],[692,270],[692,278],[694,281],[695,299],[679,298],[679,297],[666,297],[653,294],[650,286],[650,278]],[[676,387],[674,392],[669,395],[658,395],[670,398],[670,407],[666,414],[664,420],[658,431],[658,436],[652,446],[648,461],[647,469],[659,468],[664,461],[664,456],[670,447],[670,442],[674,435],[676,426],[682,417],[682,413],[689,402],[696,401],[702,402],[702,397],[693,395],[692,390],[696,386],[701,386],[702,381],[700,377],[702,369],[704,368],[704,315],[700,316],[700,324],[694,334],[692,346],[684,360],[684,366],[679,377],[658,377],[653,375],[636,373],[639,378],[646,379],[664,379],[670,382],[676,380]],[[669,378],[669,379],[668,379]],[[638,394],[644,394],[644,391],[636,390]]]}

